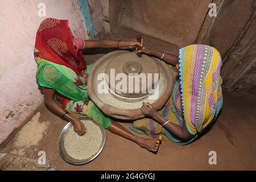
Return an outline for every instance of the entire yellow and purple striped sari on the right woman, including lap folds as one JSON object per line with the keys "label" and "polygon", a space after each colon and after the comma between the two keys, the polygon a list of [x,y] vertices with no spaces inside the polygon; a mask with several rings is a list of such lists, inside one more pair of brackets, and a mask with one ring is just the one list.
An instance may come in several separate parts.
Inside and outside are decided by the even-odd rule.
{"label": "entire yellow and purple striped sari on the right woman, including lap folds", "polygon": [[185,125],[194,137],[189,141],[175,138],[165,127],[153,119],[133,122],[131,129],[151,137],[162,135],[177,144],[188,144],[217,117],[222,107],[222,65],[216,48],[195,44],[179,50],[179,78],[172,96],[159,113],[176,125]]}

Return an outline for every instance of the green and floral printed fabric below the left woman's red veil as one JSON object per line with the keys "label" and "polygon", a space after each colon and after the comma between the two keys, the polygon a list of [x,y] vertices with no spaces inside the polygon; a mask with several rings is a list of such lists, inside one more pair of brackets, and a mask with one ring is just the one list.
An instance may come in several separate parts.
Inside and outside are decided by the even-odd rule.
{"label": "green and floral printed fabric below the left woman's red veil", "polygon": [[87,77],[92,64],[84,71],[85,76],[77,75],[72,69],[51,61],[38,59],[38,72],[36,81],[39,86],[56,91],[55,100],[69,113],[87,115],[105,129],[111,124],[111,119],[101,112],[98,107],[89,100],[87,92]]}

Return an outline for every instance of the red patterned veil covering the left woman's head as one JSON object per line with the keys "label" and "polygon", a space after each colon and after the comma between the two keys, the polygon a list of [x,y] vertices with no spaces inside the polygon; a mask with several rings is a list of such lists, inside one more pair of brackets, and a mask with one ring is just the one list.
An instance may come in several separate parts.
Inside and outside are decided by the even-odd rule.
{"label": "red patterned veil covering the left woman's head", "polygon": [[73,45],[73,34],[68,27],[68,20],[43,20],[36,32],[34,56],[36,60],[41,57],[52,63],[65,65],[79,75],[86,68],[82,51],[76,52]]}

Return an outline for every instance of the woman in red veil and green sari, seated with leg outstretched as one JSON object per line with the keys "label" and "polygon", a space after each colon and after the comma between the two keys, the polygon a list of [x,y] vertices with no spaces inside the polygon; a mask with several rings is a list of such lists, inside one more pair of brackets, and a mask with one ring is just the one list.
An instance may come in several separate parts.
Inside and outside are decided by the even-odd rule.
{"label": "woman in red veil and green sari, seated with leg outstretched", "polygon": [[36,81],[43,87],[49,110],[71,122],[77,134],[86,132],[84,124],[70,113],[87,115],[114,134],[129,139],[149,151],[157,151],[161,138],[144,139],[113,121],[89,100],[86,78],[92,65],[86,65],[82,49],[142,46],[136,41],[82,40],[74,38],[68,20],[45,19],[36,33]]}

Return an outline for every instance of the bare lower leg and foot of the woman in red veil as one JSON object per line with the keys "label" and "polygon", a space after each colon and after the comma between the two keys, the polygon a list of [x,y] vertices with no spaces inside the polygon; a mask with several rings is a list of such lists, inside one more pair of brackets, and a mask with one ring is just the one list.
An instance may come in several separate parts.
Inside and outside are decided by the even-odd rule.
{"label": "bare lower leg and foot of the woman in red veil", "polygon": [[129,139],[141,146],[142,148],[146,148],[149,151],[156,152],[158,151],[159,144],[161,141],[161,136],[158,138],[140,138],[132,134],[129,130],[125,129],[122,125],[120,125],[116,121],[112,121],[108,130],[114,134],[117,134],[123,138]]}

